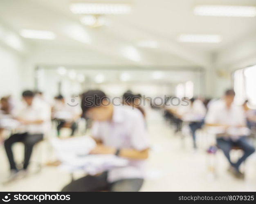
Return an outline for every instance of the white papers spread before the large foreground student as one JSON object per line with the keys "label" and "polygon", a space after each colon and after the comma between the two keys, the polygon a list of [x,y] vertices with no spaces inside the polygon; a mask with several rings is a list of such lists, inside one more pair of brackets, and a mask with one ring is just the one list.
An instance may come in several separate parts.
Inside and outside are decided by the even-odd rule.
{"label": "white papers spread before the large foreground student", "polygon": [[82,169],[89,175],[95,175],[128,164],[128,160],[115,155],[90,155],[96,143],[88,136],[64,140],[55,138],[52,140],[52,145],[58,159],[62,162],[60,168],[66,171]]}

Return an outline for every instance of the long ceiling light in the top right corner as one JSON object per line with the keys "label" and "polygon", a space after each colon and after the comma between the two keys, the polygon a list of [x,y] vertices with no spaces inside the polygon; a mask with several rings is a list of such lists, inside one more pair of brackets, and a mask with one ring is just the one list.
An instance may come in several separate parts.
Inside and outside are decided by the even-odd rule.
{"label": "long ceiling light in the top right corner", "polygon": [[256,7],[198,5],[194,9],[194,14],[199,16],[254,17],[256,16]]}

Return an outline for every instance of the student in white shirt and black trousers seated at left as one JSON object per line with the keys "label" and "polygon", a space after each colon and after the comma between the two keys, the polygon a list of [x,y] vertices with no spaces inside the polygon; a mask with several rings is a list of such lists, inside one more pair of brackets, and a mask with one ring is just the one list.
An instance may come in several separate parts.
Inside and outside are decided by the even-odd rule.
{"label": "student in white shirt and black trousers seated at left", "polygon": [[4,141],[11,169],[10,178],[15,177],[19,171],[13,158],[12,145],[16,142],[24,143],[23,172],[26,172],[33,146],[40,140],[43,140],[43,135],[48,130],[50,121],[50,108],[35,100],[32,91],[24,91],[22,98],[24,104],[14,113],[16,120],[20,122],[20,127],[17,129],[18,133],[11,135]]}

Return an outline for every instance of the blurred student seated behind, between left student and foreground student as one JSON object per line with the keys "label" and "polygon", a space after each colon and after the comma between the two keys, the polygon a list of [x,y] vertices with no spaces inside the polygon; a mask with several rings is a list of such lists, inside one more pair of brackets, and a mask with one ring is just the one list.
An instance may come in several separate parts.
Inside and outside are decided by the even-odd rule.
{"label": "blurred student seated behind, between left student and foreground student", "polygon": [[58,121],[57,125],[57,134],[60,135],[61,128],[68,125],[70,126],[72,132],[71,136],[74,135],[74,132],[77,129],[76,121],[81,116],[81,107],[69,105],[65,102],[65,99],[62,95],[55,97],[55,104],[52,108],[53,118]]}

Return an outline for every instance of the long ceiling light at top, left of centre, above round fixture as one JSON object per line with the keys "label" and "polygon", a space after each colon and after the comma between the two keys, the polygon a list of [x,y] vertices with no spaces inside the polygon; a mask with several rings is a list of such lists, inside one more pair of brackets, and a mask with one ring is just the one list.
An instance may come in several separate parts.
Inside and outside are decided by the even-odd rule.
{"label": "long ceiling light at top, left of centre, above round fixture", "polygon": [[129,4],[111,3],[73,3],[70,10],[76,14],[126,14],[130,13]]}

